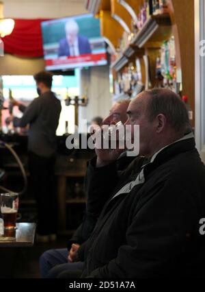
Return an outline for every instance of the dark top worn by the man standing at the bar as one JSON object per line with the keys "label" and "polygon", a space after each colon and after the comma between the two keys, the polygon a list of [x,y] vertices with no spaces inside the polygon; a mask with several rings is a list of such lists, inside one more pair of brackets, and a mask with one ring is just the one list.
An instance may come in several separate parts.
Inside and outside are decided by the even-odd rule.
{"label": "dark top worn by the man standing at the bar", "polygon": [[61,103],[51,91],[34,99],[25,109],[21,119],[14,118],[15,127],[30,125],[28,133],[28,149],[42,157],[50,157],[56,151],[56,135],[61,112]]}

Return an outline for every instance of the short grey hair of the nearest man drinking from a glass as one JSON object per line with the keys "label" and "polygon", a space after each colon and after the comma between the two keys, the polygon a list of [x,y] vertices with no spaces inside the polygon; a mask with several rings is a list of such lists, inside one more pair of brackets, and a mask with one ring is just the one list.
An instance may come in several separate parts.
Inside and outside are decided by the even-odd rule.
{"label": "short grey hair of the nearest man drinking from a glass", "polygon": [[176,93],[167,88],[154,88],[144,93],[150,95],[147,113],[149,121],[153,121],[158,114],[164,114],[169,125],[176,132],[185,132],[189,123],[189,114],[183,101]]}

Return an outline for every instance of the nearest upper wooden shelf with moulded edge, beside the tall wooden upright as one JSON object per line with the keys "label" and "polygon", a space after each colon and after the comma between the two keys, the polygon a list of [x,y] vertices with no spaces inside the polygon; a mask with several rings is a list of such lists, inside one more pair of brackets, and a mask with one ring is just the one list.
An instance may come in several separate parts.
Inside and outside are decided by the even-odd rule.
{"label": "nearest upper wooden shelf with moulded edge, beside the tall wooden upright", "polygon": [[161,43],[169,40],[172,34],[172,23],[169,14],[152,15],[144,23],[131,45],[141,47],[161,47]]}

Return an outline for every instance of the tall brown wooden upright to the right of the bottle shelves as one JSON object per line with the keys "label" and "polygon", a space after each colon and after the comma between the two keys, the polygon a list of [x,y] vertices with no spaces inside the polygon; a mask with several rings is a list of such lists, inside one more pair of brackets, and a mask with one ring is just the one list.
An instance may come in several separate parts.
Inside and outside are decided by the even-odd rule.
{"label": "tall brown wooden upright to the right of the bottle shelves", "polygon": [[189,97],[195,121],[194,0],[167,0],[176,41],[177,68],[182,72],[182,94]]}

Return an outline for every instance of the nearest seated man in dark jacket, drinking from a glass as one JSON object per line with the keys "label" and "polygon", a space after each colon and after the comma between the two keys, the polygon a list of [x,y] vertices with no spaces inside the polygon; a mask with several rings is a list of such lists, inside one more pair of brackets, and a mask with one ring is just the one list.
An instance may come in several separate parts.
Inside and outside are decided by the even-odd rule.
{"label": "nearest seated man in dark jacket, drinking from a glass", "polygon": [[[126,124],[139,125],[137,160],[120,176],[120,150],[97,149],[87,171],[90,193],[105,199],[94,232],[74,260],[82,278],[204,276],[205,167],[193,134],[184,136],[187,110],[168,89],[148,90],[128,107]],[[59,277],[76,276],[62,273]]]}

